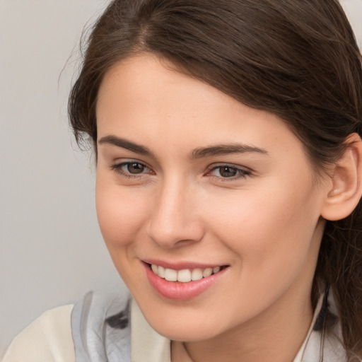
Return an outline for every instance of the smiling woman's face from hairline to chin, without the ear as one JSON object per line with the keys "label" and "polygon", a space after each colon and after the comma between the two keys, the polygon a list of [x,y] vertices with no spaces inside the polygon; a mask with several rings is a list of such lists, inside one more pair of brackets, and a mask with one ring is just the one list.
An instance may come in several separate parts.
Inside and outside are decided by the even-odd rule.
{"label": "smiling woman's face from hairline to chin, without the ear", "polygon": [[284,122],[143,54],[105,75],[97,125],[100,228],[154,329],[309,316],[326,186]]}

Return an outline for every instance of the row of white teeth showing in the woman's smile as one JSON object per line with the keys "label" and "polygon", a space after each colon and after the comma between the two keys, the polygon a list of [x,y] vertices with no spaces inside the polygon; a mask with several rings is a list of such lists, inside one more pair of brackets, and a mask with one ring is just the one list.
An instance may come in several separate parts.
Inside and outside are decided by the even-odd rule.
{"label": "row of white teeth showing in the woman's smile", "polygon": [[161,267],[156,264],[148,264],[154,274],[158,275],[160,278],[165,279],[166,281],[178,281],[180,283],[188,283],[189,281],[198,281],[213,274],[217,274],[219,271],[225,269],[226,265],[221,267],[213,268],[195,268],[195,269],[168,269]]}

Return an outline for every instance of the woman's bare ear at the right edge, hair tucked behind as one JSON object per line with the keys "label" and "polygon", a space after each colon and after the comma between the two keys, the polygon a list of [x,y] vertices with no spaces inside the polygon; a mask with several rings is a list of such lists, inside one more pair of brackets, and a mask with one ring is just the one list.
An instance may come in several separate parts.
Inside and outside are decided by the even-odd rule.
{"label": "woman's bare ear at the right edge, hair tucked behind", "polygon": [[331,173],[332,182],[322,206],[322,217],[337,221],[356,208],[362,196],[362,141],[358,134],[346,138],[346,149]]}

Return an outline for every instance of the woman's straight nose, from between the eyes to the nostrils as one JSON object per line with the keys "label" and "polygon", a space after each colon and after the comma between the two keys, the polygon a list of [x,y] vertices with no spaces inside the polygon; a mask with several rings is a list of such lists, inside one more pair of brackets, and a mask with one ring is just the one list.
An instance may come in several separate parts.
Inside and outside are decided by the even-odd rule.
{"label": "woman's straight nose, from between the eyes to the nostrils", "polygon": [[154,243],[172,248],[202,240],[204,226],[192,187],[181,180],[165,181],[154,195],[153,206],[148,234]]}

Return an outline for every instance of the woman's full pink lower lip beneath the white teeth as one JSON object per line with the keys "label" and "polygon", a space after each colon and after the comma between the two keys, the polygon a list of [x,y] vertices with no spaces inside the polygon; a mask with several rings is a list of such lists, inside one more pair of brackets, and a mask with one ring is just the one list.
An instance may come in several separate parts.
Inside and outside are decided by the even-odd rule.
{"label": "woman's full pink lower lip beneath the white teeth", "polygon": [[197,281],[181,283],[176,281],[167,281],[166,279],[160,278],[160,276],[153,273],[148,264],[144,265],[148,281],[156,292],[165,298],[180,301],[189,300],[199,296],[201,293],[204,293],[204,291],[216,284],[218,279],[220,279],[226,269],[228,269],[222,269],[216,274],[212,274],[211,276],[207,276],[206,278]]}

